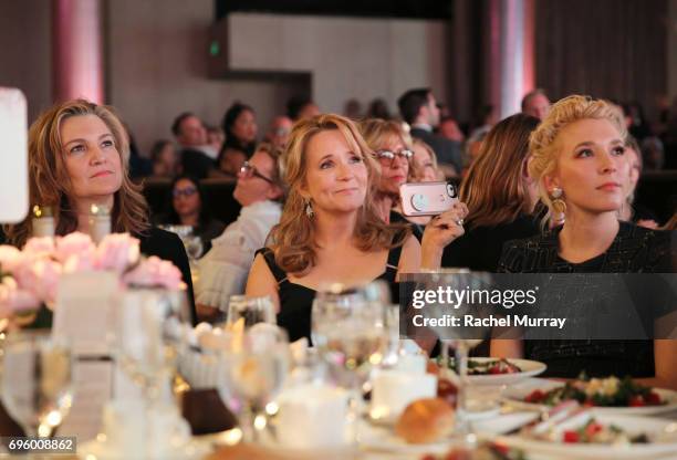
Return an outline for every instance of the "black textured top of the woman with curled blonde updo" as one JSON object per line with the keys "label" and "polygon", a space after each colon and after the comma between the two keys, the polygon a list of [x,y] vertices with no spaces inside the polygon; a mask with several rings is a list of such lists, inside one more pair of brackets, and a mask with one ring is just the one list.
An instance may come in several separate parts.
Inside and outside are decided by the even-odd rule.
{"label": "black textured top of the woman with curled blonde updo", "polygon": [[[606,252],[582,263],[559,255],[561,227],[506,243],[498,271],[508,273],[669,273],[670,232],[619,222]],[[655,375],[652,341],[524,341],[524,357],[548,364],[545,376]]]}

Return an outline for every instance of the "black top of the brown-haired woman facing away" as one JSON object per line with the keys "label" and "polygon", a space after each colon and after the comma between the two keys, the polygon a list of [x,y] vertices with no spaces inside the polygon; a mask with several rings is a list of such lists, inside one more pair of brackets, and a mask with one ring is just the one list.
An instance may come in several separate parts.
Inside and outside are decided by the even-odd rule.
{"label": "black top of the brown-haired woman facing away", "polygon": [[473,271],[496,272],[503,244],[510,240],[541,233],[537,218],[520,215],[510,223],[493,227],[471,227],[445,248],[441,266],[458,266]]}

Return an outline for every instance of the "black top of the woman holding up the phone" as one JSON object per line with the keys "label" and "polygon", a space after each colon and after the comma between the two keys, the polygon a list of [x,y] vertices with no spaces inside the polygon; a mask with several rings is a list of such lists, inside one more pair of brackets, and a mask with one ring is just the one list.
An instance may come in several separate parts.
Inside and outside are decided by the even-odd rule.
{"label": "black top of the woman holding up the phone", "polygon": [[[312,343],[311,312],[316,291],[289,281],[287,273],[275,263],[274,253],[269,248],[258,250],[257,254],[259,253],[263,255],[268,268],[278,282],[278,293],[280,295],[278,325],[287,330],[290,342],[308,337]],[[376,280],[384,280],[394,285],[400,253],[402,245],[390,249],[386,269]]]}

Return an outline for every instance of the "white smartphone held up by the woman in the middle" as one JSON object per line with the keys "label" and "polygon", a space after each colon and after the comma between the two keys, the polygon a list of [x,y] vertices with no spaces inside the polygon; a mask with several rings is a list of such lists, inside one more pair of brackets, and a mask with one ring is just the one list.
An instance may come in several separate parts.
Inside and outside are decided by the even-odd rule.
{"label": "white smartphone held up by the woman in the middle", "polygon": [[399,186],[402,212],[408,217],[437,216],[458,201],[454,184],[417,182]]}

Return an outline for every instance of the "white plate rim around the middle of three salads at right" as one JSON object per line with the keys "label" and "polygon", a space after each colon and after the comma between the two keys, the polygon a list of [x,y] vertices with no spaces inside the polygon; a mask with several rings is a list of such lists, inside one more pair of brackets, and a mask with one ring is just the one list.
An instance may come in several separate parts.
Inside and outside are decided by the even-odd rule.
{"label": "white plate rim around the middle of three salads at right", "polygon": [[[563,381],[548,380],[544,378],[530,378],[521,381],[514,386],[511,386],[503,391],[503,398],[511,405],[523,407],[524,409],[537,410],[540,407],[546,407],[545,405],[539,405],[533,402],[525,402],[524,398],[531,391],[540,389],[542,391],[549,391],[553,388],[564,386]],[[645,406],[645,407],[595,407],[595,411],[601,414],[613,414],[613,415],[636,415],[636,416],[650,416],[658,414],[666,414],[677,410],[677,391],[663,388],[654,388],[654,391],[660,399],[667,401],[666,405],[662,406]]]}

